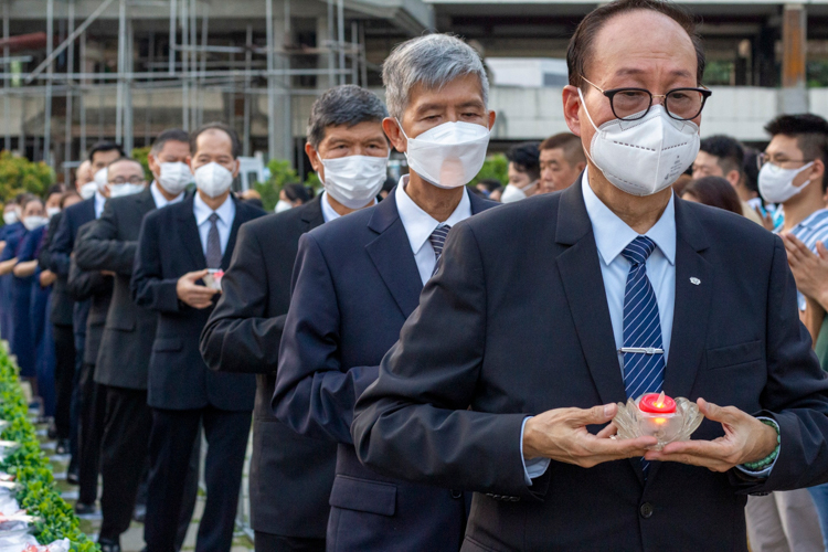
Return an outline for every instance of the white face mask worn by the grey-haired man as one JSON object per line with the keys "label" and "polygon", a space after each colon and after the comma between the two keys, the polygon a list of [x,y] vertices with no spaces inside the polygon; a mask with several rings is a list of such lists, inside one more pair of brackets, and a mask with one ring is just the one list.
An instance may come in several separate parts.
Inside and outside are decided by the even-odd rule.
{"label": "white face mask worn by the grey-haired man", "polygon": [[437,188],[468,184],[486,161],[491,132],[482,125],[444,123],[408,138],[399,120],[396,124],[408,140],[405,152],[408,167]]}

